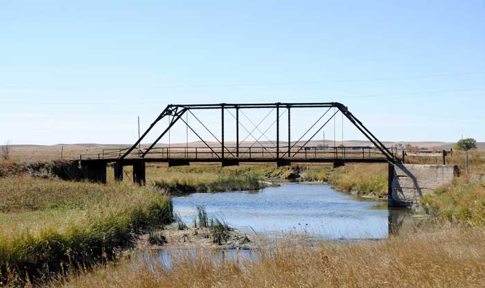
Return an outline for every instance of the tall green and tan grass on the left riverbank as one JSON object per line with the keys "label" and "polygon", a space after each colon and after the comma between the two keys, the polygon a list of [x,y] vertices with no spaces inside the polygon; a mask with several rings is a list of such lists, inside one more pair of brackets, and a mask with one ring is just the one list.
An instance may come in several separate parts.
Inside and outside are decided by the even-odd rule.
{"label": "tall green and tan grass on the left riverbank", "polygon": [[42,280],[111,258],[171,218],[170,198],[150,188],[0,178],[0,282]]}

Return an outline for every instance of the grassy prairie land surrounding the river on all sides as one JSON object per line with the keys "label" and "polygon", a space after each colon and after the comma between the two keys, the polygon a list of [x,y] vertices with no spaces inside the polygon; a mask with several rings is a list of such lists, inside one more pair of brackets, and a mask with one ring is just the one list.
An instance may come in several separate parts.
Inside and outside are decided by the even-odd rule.
{"label": "grassy prairie land surrounding the river on all sides", "polygon": [[[430,221],[387,240],[281,240],[259,249],[257,261],[173,255],[170,269],[116,257],[134,245],[137,235],[172,221],[170,192],[252,190],[270,185],[268,180],[290,179],[386,197],[387,164],[150,164],[147,186],[139,187],[131,183],[129,167],[121,183],[108,167],[103,185],[56,178],[52,167],[58,162],[2,162],[0,281],[52,287],[480,287],[485,280],[485,153],[468,154],[468,174],[463,152],[447,156],[460,166],[461,176],[423,197]],[[425,159],[408,157],[407,163]]]}

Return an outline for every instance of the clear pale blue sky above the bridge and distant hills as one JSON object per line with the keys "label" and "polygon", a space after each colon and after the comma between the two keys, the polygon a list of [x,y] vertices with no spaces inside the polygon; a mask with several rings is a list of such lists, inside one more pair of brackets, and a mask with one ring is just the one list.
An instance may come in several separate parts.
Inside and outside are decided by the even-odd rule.
{"label": "clear pale blue sky above the bridge and distant hills", "polygon": [[169,103],[277,101],[485,141],[484,1],[73,2],[0,2],[0,144],[133,143]]}

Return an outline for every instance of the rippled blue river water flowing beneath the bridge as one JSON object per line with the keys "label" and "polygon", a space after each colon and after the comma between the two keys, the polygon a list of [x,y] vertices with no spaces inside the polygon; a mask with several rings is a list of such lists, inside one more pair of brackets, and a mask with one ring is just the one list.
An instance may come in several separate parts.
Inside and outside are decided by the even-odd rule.
{"label": "rippled blue river water flowing beneath the bridge", "polygon": [[202,205],[209,216],[224,219],[239,231],[271,236],[304,233],[326,240],[387,237],[393,211],[376,208],[382,204],[309,183],[173,198],[175,213],[188,224],[196,217],[195,206]]}

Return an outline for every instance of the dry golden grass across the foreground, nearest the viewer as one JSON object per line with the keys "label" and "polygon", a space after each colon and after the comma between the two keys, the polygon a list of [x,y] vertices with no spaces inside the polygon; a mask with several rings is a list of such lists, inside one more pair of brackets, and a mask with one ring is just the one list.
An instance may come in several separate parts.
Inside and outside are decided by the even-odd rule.
{"label": "dry golden grass across the foreground, nearest the viewer", "polygon": [[483,229],[448,227],[379,242],[280,243],[256,262],[200,253],[175,255],[166,269],[134,260],[74,276],[64,287],[483,287],[484,241]]}

